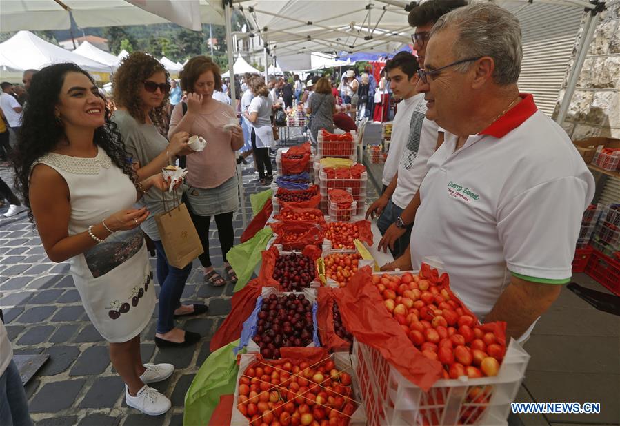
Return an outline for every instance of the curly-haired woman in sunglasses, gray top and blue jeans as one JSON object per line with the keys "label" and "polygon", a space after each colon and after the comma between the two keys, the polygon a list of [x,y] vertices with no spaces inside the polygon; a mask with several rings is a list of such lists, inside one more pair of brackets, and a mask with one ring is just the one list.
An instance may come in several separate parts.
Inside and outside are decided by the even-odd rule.
{"label": "curly-haired woman in sunglasses, gray top and blue jeans", "polygon": [[[170,77],[157,59],[143,52],[133,52],[123,59],[114,73],[114,101],[117,110],[112,121],[117,124],[123,136],[128,157],[139,178],[161,173],[161,169],[172,164],[177,155],[192,153],[188,146],[188,133],[179,132],[170,137],[170,142],[159,134],[157,125],[165,118]],[[201,336],[174,327],[174,317],[205,313],[203,304],[181,305],[181,294],[192,271],[192,264],[179,269],[168,264],[161,244],[154,215],[163,213],[181,200],[182,191],[176,193],[148,191],[143,205],[152,215],[141,224],[142,231],[154,242],[157,249],[157,280],[159,292],[159,316],[155,330],[157,347],[181,347],[194,345]]]}

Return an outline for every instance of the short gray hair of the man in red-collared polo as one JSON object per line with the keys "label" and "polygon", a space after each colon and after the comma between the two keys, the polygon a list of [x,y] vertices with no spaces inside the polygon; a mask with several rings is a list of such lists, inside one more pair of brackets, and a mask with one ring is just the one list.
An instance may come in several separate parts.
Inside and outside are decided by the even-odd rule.
{"label": "short gray hair of the man in red-collared polo", "polygon": [[[493,3],[475,3],[452,10],[437,20],[430,35],[454,28],[454,59],[490,56],[494,59],[493,80],[500,86],[514,84],[521,73],[521,27],[514,14]],[[457,66],[466,72],[471,63]]]}

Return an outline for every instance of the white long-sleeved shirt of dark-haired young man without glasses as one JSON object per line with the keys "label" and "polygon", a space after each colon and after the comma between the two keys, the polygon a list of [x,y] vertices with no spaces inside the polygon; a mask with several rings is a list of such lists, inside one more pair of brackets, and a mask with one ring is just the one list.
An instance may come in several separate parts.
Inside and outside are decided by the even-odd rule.
{"label": "white long-sleeved shirt of dark-haired young man without glasses", "polygon": [[[399,162],[405,151],[407,139],[409,139],[409,126],[411,124],[411,115],[415,107],[419,104],[420,99],[424,99],[424,94],[419,93],[408,99],[403,99],[398,103],[394,122],[392,122],[392,138],[390,139],[390,151],[386,163],[383,164],[383,175],[381,183],[389,185],[394,179],[394,175],[398,171]],[[425,104],[426,105],[426,104]]]}

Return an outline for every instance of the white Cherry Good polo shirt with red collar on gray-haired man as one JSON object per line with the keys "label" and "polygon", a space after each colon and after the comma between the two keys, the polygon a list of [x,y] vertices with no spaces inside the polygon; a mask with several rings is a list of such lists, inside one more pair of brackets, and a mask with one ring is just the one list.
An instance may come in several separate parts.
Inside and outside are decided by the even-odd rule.
{"label": "white Cherry Good polo shirt with red collar on gray-haired man", "polygon": [[411,233],[414,269],[439,256],[450,286],[480,320],[511,274],[570,280],[581,216],[594,196],[594,177],[568,135],[532,95],[521,97],[459,151],[446,133],[428,159]]}

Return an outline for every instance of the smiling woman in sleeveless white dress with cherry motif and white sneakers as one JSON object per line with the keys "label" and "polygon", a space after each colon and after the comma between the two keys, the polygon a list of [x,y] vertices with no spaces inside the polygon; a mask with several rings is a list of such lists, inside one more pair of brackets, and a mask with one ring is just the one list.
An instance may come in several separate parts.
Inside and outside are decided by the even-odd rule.
{"label": "smiling woman in sleeveless white dress with cherry motif and white sneakers", "polygon": [[15,162],[28,215],[50,260],[70,261],[88,318],[110,342],[127,405],[163,414],[170,400],[146,383],[170,377],[174,366],[141,361],[140,332],[155,294],[139,228],[149,212],[134,204],[168,184],[161,173],[136,181],[105,101],[79,66],[43,68],[28,94]]}

